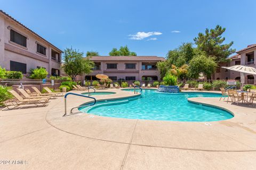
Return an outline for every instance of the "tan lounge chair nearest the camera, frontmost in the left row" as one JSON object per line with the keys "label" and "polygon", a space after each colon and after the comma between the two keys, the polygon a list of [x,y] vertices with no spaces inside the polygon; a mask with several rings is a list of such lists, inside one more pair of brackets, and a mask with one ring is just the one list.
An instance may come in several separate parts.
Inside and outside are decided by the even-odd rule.
{"label": "tan lounge chair nearest the camera, frontmost in the left row", "polygon": [[[14,90],[8,90],[8,91],[17,99],[11,102],[11,105],[14,106],[13,108],[18,107],[20,105],[27,105],[27,104],[34,104],[36,106],[38,106],[38,104],[42,104],[43,106],[45,106],[46,103],[50,100],[50,97],[23,99],[16,91]],[[6,107],[9,109],[13,109],[9,107],[11,105],[6,105]]]}

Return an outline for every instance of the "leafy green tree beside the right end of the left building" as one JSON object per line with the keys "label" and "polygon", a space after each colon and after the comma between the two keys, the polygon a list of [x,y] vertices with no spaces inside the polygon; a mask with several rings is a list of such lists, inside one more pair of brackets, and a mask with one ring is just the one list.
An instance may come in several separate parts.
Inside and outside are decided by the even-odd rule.
{"label": "leafy green tree beside the right end of the left building", "polygon": [[63,69],[74,81],[77,75],[89,74],[92,72],[94,63],[89,57],[84,58],[84,53],[76,49],[66,48],[63,54]]}

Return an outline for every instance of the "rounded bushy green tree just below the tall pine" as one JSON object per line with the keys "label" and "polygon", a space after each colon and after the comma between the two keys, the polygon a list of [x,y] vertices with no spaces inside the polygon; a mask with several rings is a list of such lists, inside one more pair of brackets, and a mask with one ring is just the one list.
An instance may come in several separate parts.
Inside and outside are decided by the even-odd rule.
{"label": "rounded bushy green tree just below the tall pine", "polygon": [[206,55],[197,55],[189,62],[188,74],[190,78],[198,79],[199,74],[203,73],[207,79],[211,79],[211,74],[214,73],[217,64],[213,57]]}

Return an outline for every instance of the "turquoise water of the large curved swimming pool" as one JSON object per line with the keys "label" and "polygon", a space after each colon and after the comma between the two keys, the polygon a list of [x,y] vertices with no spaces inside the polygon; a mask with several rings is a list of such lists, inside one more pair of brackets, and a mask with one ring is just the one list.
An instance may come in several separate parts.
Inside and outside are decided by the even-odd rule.
{"label": "turquoise water of the large curved swimming pool", "polygon": [[107,117],[162,121],[208,122],[233,117],[229,112],[219,108],[189,103],[187,99],[190,97],[220,97],[220,95],[203,92],[163,94],[145,89],[137,98],[100,102],[80,110]]}

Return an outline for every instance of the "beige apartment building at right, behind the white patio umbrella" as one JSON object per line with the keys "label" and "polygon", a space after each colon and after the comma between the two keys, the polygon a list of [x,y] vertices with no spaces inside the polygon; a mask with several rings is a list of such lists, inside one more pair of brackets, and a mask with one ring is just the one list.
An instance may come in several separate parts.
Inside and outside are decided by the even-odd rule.
{"label": "beige apartment building at right, behind the white patio umbrella", "polygon": [[[233,66],[233,65],[246,65],[256,68],[256,44],[248,45],[246,48],[238,50],[236,55],[230,57],[229,63],[222,63],[221,66]],[[244,74],[246,84],[256,84],[256,75]],[[232,79],[240,80],[240,73],[230,71],[223,68],[218,68],[214,74],[215,79]]]}

